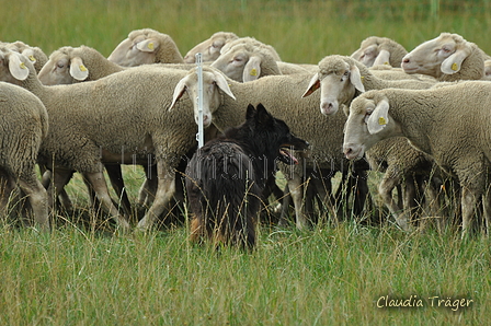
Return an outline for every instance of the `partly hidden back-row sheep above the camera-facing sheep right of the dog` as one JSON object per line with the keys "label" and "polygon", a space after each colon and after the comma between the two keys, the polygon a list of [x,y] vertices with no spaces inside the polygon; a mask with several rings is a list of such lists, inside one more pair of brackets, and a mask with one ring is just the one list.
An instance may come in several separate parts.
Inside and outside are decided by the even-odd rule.
{"label": "partly hidden back-row sheep above the camera-facing sheep right of the dog", "polygon": [[406,48],[391,38],[369,36],[362,40],[351,57],[366,67],[388,65],[397,68],[401,67],[401,60],[407,54]]}

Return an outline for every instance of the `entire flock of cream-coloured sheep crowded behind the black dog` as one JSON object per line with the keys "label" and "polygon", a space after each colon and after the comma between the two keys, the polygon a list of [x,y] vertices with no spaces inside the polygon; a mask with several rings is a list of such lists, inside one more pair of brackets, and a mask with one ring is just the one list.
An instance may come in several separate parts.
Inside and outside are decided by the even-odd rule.
{"label": "entire flock of cream-coloured sheep crowded behind the black dog", "polygon": [[[432,214],[443,213],[439,190],[452,179],[463,232],[480,201],[489,231],[491,58],[449,33],[410,53],[373,36],[353,55],[327,56],[318,65],[284,62],[271,45],[226,32],[184,57],[169,35],[150,28],[129,33],[109,58],[87,46],[61,47],[48,58],[22,42],[2,43],[5,211],[13,194],[25,195],[30,214],[48,230],[55,201],[70,208],[65,186],[78,172],[91,202],[128,230],[133,210],[121,164],[140,164],[147,178],[138,200],[148,210],[136,228],[150,229],[184,196],[176,179],[182,158],[196,149],[197,53],[205,62],[206,139],[242,123],[248,104],[262,103],[310,143],[300,164],[278,164],[285,190],[270,183],[270,191],[284,197],[279,223],[286,222],[289,199],[299,229],[315,220],[316,200],[338,221],[345,207],[331,185],[338,172],[349,185],[346,196],[353,196],[353,213],[362,214],[370,201],[367,172],[376,170],[384,173],[379,193],[389,218],[402,230],[414,226],[423,185]],[[41,181],[36,164],[44,172]],[[110,196],[104,171],[118,200]]]}

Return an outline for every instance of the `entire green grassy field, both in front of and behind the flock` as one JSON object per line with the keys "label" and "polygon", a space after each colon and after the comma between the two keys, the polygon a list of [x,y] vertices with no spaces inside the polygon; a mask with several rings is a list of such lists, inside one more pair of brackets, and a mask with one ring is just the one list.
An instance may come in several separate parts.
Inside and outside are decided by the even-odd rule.
{"label": "entire green grassy field, both in front of and behind the flock", "polygon": [[[343,4],[340,4],[343,3]],[[46,54],[88,45],[107,56],[137,28],[173,37],[184,55],[217,31],[275,46],[285,61],[350,55],[370,35],[407,49],[441,32],[491,54],[491,10],[422,1],[0,0],[0,40]],[[461,5],[461,7],[459,7]],[[130,199],[139,168],[125,168]],[[376,178],[375,178],[376,181]],[[255,252],[187,242],[186,225],[113,234],[90,216],[80,178],[76,203],[50,234],[0,226],[0,325],[487,325],[491,241],[429,228],[345,221],[311,231],[260,229]],[[464,300],[464,301],[461,301]],[[406,307],[389,305],[404,304]],[[422,306],[419,306],[422,305]]]}

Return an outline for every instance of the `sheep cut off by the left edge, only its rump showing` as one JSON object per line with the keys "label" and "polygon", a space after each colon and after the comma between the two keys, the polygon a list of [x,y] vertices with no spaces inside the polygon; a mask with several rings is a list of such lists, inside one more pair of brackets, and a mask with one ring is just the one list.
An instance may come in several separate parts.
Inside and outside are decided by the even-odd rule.
{"label": "sheep cut off by the left edge, only its rump showing", "polygon": [[2,210],[7,210],[9,195],[19,185],[28,197],[34,221],[43,230],[48,230],[48,199],[35,171],[42,140],[48,132],[46,108],[31,92],[0,83],[0,179],[2,186],[7,186],[2,189]]}

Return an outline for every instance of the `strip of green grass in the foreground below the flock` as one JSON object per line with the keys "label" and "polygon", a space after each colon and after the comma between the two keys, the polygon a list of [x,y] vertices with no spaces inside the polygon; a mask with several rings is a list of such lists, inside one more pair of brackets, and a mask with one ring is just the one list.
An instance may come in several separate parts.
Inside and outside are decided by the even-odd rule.
{"label": "strip of green grass in the foreground below the flock", "polygon": [[[443,325],[489,318],[490,241],[355,224],[266,230],[256,251],[185,229],[106,236],[0,230],[2,325]],[[424,307],[377,307],[418,295]],[[470,307],[432,307],[429,298]]]}

